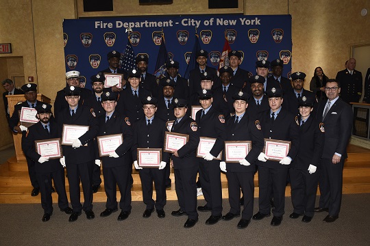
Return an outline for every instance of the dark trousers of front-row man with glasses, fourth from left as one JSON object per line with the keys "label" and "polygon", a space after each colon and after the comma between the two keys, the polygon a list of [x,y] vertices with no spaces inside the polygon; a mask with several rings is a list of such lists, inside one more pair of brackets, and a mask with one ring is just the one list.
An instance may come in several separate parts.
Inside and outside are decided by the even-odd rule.
{"label": "dark trousers of front-row man with glasses, fourth from left", "polygon": [[[156,206],[157,210],[162,210],[166,205],[167,195],[164,176],[165,169],[158,168],[143,168],[140,169],[139,175],[141,187],[143,189],[143,202],[147,205],[146,209],[153,209]],[[153,200],[153,181],[156,189],[156,202]]]}

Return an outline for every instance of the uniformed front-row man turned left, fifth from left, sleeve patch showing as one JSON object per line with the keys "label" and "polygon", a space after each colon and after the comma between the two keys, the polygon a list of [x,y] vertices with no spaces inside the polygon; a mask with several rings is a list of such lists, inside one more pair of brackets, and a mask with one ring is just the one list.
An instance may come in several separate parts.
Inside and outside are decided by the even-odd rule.
{"label": "uniformed front-row man turned left, fifth from left, sleeve patch showing", "polygon": [[197,162],[196,150],[199,144],[197,123],[186,117],[187,102],[184,99],[173,100],[173,111],[176,117],[171,132],[188,135],[188,142],[172,154],[175,172],[175,189],[180,209],[171,213],[173,216],[188,215],[184,228],[192,228],[198,221],[197,213]]}

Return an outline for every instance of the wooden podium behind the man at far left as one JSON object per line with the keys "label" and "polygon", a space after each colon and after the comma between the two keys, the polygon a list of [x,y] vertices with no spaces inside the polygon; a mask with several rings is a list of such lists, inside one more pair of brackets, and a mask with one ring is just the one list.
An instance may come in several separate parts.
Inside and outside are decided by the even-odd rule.
{"label": "wooden podium behind the man at far left", "polygon": [[[13,113],[14,113],[14,106],[18,102],[24,102],[25,101],[25,95],[23,95],[23,94],[21,94],[21,95],[7,95],[6,97],[8,98],[9,114],[10,114],[10,116],[12,116]],[[48,98],[47,96],[44,96],[42,94],[37,94],[37,100],[39,100],[41,102],[50,103],[50,98]],[[23,153],[22,145],[21,145],[22,144],[22,134],[21,133],[17,133],[17,134],[13,133],[13,140],[14,140],[14,148],[15,148],[15,152],[16,152],[16,161],[25,162],[25,154]]]}

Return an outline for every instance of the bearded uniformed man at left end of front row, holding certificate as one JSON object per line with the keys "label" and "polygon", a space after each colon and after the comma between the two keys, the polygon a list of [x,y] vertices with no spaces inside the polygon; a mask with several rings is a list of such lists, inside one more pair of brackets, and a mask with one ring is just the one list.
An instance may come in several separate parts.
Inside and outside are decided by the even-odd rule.
{"label": "bearded uniformed man at left end of front row, holding certificate", "polygon": [[[70,215],[72,208],[68,205],[66,196],[64,168],[58,159],[50,159],[51,156],[40,155],[36,152],[35,141],[55,139],[59,137],[58,125],[51,118],[51,105],[39,103],[36,107],[38,123],[28,128],[25,138],[22,140],[23,152],[35,162],[36,178],[40,184],[41,206],[44,209],[42,221],[49,221],[53,213],[53,199],[51,197],[51,177],[58,193],[58,206],[61,211]],[[45,163],[46,162],[46,163]],[[43,164],[45,163],[45,164]]]}

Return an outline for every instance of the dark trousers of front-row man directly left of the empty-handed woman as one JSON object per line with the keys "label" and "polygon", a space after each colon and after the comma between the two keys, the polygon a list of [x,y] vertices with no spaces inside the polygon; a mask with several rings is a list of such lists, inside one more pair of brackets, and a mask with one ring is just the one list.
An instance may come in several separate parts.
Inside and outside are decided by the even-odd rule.
{"label": "dark trousers of front-row man directly left of the empty-handed woman", "polygon": [[[280,165],[280,163],[276,163],[276,165]],[[258,167],[258,186],[260,188],[258,204],[260,213],[270,213],[270,194],[272,189],[273,203],[275,205],[273,215],[276,217],[284,215],[287,175],[287,168]]]}

